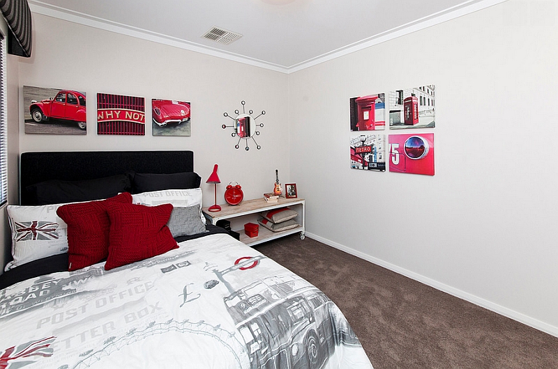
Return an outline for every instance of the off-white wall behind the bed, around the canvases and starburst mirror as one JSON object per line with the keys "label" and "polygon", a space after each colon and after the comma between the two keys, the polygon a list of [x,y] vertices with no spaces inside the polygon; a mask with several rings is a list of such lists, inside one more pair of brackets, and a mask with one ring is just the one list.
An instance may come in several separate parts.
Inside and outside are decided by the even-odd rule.
{"label": "off-white wall behind the bed, around the canvases and starburst mirror", "polygon": [[[54,150],[193,150],[195,171],[206,180],[219,164],[218,203],[228,182],[239,182],[246,198],[271,191],[275,168],[289,172],[287,75],[242,63],[189,52],[33,13],[33,54],[20,62],[20,88],[70,88],[87,95],[86,136],[24,134],[20,118],[20,152]],[[145,136],[96,134],[96,94],[142,96],[146,101]],[[151,99],[183,100],[192,104],[192,136],[152,136]],[[236,150],[232,123],[223,113],[246,111],[266,115],[250,151]],[[20,90],[20,113],[23,114]],[[257,112],[257,113],[256,113]],[[204,204],[213,203],[213,187],[202,183]]]}

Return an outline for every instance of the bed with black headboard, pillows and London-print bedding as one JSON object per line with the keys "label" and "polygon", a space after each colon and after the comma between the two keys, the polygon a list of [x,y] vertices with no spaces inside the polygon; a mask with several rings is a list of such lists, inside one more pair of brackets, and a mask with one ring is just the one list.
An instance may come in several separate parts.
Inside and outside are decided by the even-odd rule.
{"label": "bed with black headboard, pillows and London-print bedding", "polygon": [[193,152],[26,152],[20,173],[0,368],[372,368],[323,292],[204,222]]}

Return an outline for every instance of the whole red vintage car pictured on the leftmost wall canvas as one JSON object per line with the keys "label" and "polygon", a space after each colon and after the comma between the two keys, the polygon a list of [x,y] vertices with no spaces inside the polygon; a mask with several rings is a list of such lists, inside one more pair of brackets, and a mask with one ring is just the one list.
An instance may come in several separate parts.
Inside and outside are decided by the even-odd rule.
{"label": "whole red vintage car pictured on the leftmost wall canvas", "polygon": [[54,100],[31,100],[29,111],[36,123],[50,118],[73,120],[77,127],[86,129],[85,94],[78,91],[59,91]]}

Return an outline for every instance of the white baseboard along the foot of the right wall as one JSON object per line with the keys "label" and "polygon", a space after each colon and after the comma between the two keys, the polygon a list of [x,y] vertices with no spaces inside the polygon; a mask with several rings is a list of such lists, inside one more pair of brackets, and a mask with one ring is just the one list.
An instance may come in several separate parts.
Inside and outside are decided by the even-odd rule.
{"label": "white baseboard along the foot of the right wall", "polygon": [[459,290],[457,288],[453,288],[453,287],[451,287],[451,285],[446,285],[444,283],[440,283],[438,281],[435,281],[432,278],[428,278],[428,277],[425,277],[421,274],[411,272],[410,270],[407,270],[405,268],[398,267],[397,265],[393,265],[390,262],[386,262],[384,260],[374,258],[373,256],[370,256],[370,255],[368,255],[366,253],[363,253],[361,251],[356,251],[354,249],[351,249],[350,247],[344,246],[342,244],[338,244],[337,242],[327,240],[324,237],[319,237],[318,235],[315,235],[313,233],[308,233],[307,232],[306,236],[312,238],[312,240],[322,242],[322,244],[326,244],[328,246],[334,247],[335,249],[339,249],[341,251],[345,251],[346,253],[350,253],[351,255],[354,255],[357,258],[367,260],[369,262],[372,262],[375,265],[379,265],[380,267],[384,267],[384,268],[389,269],[389,270],[391,270],[395,273],[398,273],[398,274],[401,274],[403,276],[409,277],[411,279],[414,279],[415,281],[424,283],[425,285],[429,285],[430,287],[436,288],[437,290],[440,290],[442,292],[446,292],[446,293],[448,293],[450,295],[453,295],[455,297],[458,297],[460,299],[464,299],[465,301],[469,301],[472,304],[481,306],[483,308],[487,308],[490,311],[494,311],[495,313],[498,313],[500,315],[504,315],[505,317],[509,317],[510,319],[516,320],[520,323],[527,324],[529,327],[533,327],[534,329],[538,329],[539,331],[543,331],[543,332],[548,333],[552,336],[558,337],[558,327],[554,327],[550,324],[546,324],[545,322],[541,322],[540,320],[536,320],[536,319],[534,319],[532,317],[529,317],[525,314],[518,313],[517,311],[513,311],[509,308],[506,308],[504,306],[495,304],[491,301],[481,299],[480,297],[472,295],[468,292],[464,292],[464,291]]}

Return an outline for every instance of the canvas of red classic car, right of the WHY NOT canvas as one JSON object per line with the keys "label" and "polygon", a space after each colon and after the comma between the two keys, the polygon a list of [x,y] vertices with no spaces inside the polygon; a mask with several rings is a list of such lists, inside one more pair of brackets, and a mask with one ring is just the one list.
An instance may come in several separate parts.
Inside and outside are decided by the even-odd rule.
{"label": "canvas of red classic car, right of the WHY NOT canvas", "polygon": [[151,100],[153,136],[190,136],[190,102]]}

